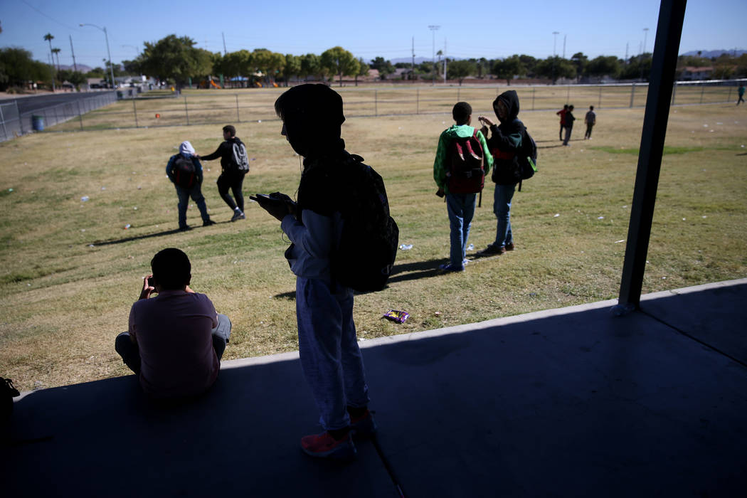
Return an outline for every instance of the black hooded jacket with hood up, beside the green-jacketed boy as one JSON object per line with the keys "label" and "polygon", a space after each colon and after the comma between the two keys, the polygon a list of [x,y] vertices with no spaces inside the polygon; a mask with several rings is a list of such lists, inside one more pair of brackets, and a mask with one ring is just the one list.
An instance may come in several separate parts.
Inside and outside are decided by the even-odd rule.
{"label": "black hooded jacket with hood up, beside the green-jacketed boy", "polygon": [[[498,116],[498,102],[503,101],[509,110],[505,120]],[[518,95],[514,90],[501,93],[493,101],[495,116],[498,116],[500,125],[490,127],[491,137],[488,139],[488,147],[493,154],[492,181],[499,185],[511,185],[518,183],[517,172],[519,170],[516,153],[521,149],[521,138],[527,128],[518,119]]]}

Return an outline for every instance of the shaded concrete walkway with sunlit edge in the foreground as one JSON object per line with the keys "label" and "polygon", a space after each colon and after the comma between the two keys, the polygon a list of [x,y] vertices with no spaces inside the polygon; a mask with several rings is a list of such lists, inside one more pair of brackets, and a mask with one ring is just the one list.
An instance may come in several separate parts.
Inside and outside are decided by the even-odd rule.
{"label": "shaded concrete walkway with sunlit edge in the foreground", "polygon": [[379,435],[351,464],[300,452],[297,353],[179,408],[134,376],[23,393],[3,495],[745,497],[746,303],[743,279],[365,341]]}

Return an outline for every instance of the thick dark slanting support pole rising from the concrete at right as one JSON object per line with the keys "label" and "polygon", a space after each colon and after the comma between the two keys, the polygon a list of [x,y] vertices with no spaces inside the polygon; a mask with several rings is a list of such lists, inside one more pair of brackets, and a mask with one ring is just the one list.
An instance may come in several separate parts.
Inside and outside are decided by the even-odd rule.
{"label": "thick dark slanting support pole rising from the concrete at right", "polygon": [[640,305],[666,125],[669,120],[669,93],[675,82],[684,16],[685,0],[661,1],[643,117],[636,186],[627,229],[619,304],[616,307],[616,312],[621,314],[639,308]]}

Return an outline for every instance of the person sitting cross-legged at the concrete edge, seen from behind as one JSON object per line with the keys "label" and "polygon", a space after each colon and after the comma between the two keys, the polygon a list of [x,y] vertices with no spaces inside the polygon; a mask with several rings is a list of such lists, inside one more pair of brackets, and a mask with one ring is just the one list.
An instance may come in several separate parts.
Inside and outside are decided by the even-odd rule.
{"label": "person sitting cross-legged at the concrete edge, seen from behind", "polygon": [[[157,399],[197,396],[220,370],[231,322],[217,314],[205,294],[190,289],[191,265],[179,249],[164,249],[150,262],[140,298],[130,310],[129,329],[114,349]],[[158,293],[149,299],[152,293]]]}

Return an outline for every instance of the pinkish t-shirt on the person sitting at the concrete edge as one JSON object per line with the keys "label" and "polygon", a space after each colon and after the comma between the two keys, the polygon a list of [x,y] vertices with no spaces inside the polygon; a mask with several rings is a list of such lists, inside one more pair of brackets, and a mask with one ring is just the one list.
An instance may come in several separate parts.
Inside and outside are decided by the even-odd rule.
{"label": "pinkish t-shirt on the person sitting at the concrete edge", "polygon": [[211,331],[218,324],[205,294],[164,290],[130,310],[129,332],[140,348],[140,385],[157,398],[191,396],[213,385],[220,370]]}

